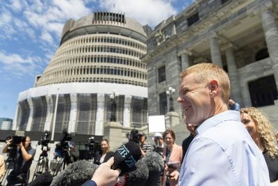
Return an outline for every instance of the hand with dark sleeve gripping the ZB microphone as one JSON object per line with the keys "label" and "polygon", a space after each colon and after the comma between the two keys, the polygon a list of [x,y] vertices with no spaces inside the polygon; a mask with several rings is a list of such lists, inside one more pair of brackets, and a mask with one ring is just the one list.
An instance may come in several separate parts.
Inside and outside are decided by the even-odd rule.
{"label": "hand with dark sleeve gripping the ZB microphone", "polygon": [[108,162],[99,166],[92,176],[92,180],[85,182],[82,186],[113,186],[117,183],[120,175],[120,169],[113,170],[111,166],[114,164],[114,157]]}

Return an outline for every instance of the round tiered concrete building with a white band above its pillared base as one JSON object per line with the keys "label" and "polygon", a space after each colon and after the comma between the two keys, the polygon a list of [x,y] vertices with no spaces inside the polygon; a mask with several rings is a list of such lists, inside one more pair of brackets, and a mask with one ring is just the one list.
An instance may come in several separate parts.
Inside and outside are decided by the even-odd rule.
{"label": "round tiered concrete building with a white band above its pillared base", "polygon": [[[111,118],[116,91],[117,122],[124,127],[147,123],[147,52],[143,27],[117,13],[94,13],[68,20],[60,46],[35,87],[19,93],[14,130],[67,128],[102,135]],[[58,102],[56,107],[56,98]],[[57,110],[55,112],[55,110]]]}

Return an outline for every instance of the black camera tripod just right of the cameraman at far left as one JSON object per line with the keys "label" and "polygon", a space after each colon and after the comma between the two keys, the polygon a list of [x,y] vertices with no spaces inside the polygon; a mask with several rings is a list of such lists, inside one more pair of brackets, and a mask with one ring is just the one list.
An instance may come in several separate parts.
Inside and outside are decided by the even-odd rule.
{"label": "black camera tripod just right of the cameraman at far left", "polygon": [[41,173],[49,171],[48,155],[47,155],[48,150],[49,150],[48,146],[42,146],[42,153],[40,154],[37,166],[35,166],[35,171],[34,171],[35,173],[33,175],[32,180],[34,180]]}

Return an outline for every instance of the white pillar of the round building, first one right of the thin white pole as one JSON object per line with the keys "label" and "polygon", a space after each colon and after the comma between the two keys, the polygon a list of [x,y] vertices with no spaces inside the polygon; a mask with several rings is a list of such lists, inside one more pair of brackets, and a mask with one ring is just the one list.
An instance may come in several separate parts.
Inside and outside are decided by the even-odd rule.
{"label": "white pillar of the round building, first one right of the thin white pole", "polygon": [[77,118],[77,94],[71,93],[70,94],[70,121],[69,127],[67,128],[67,132],[76,132],[76,118]]}

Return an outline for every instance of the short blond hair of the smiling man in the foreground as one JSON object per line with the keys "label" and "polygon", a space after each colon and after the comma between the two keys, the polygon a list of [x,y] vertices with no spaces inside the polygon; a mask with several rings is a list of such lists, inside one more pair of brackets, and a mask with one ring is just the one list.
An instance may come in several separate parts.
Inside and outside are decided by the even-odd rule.
{"label": "short blond hair of the smiling man in the foreground", "polygon": [[221,98],[225,104],[230,98],[230,80],[227,73],[218,65],[213,63],[199,63],[197,65],[190,66],[181,72],[181,79],[188,75],[193,75],[198,83],[206,86],[210,79],[217,79],[220,82]]}

